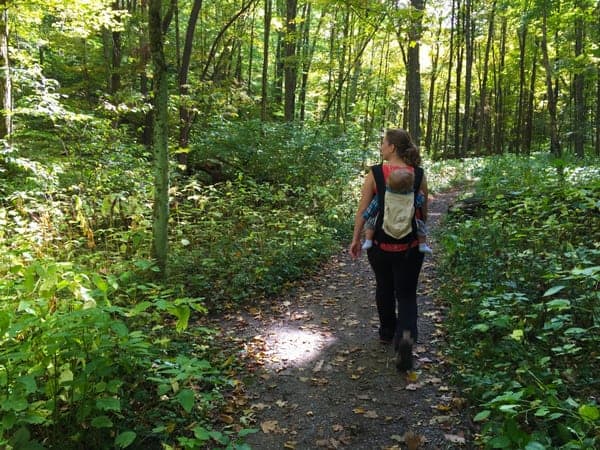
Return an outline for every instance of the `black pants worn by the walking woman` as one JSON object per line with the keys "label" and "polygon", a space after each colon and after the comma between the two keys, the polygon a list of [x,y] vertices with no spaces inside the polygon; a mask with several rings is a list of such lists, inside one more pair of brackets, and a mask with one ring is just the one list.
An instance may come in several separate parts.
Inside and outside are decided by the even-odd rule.
{"label": "black pants worn by the walking woman", "polygon": [[418,247],[406,252],[384,252],[372,247],[368,256],[375,272],[379,336],[391,340],[394,334],[402,336],[403,331],[409,330],[416,342],[417,284],[424,254]]}

